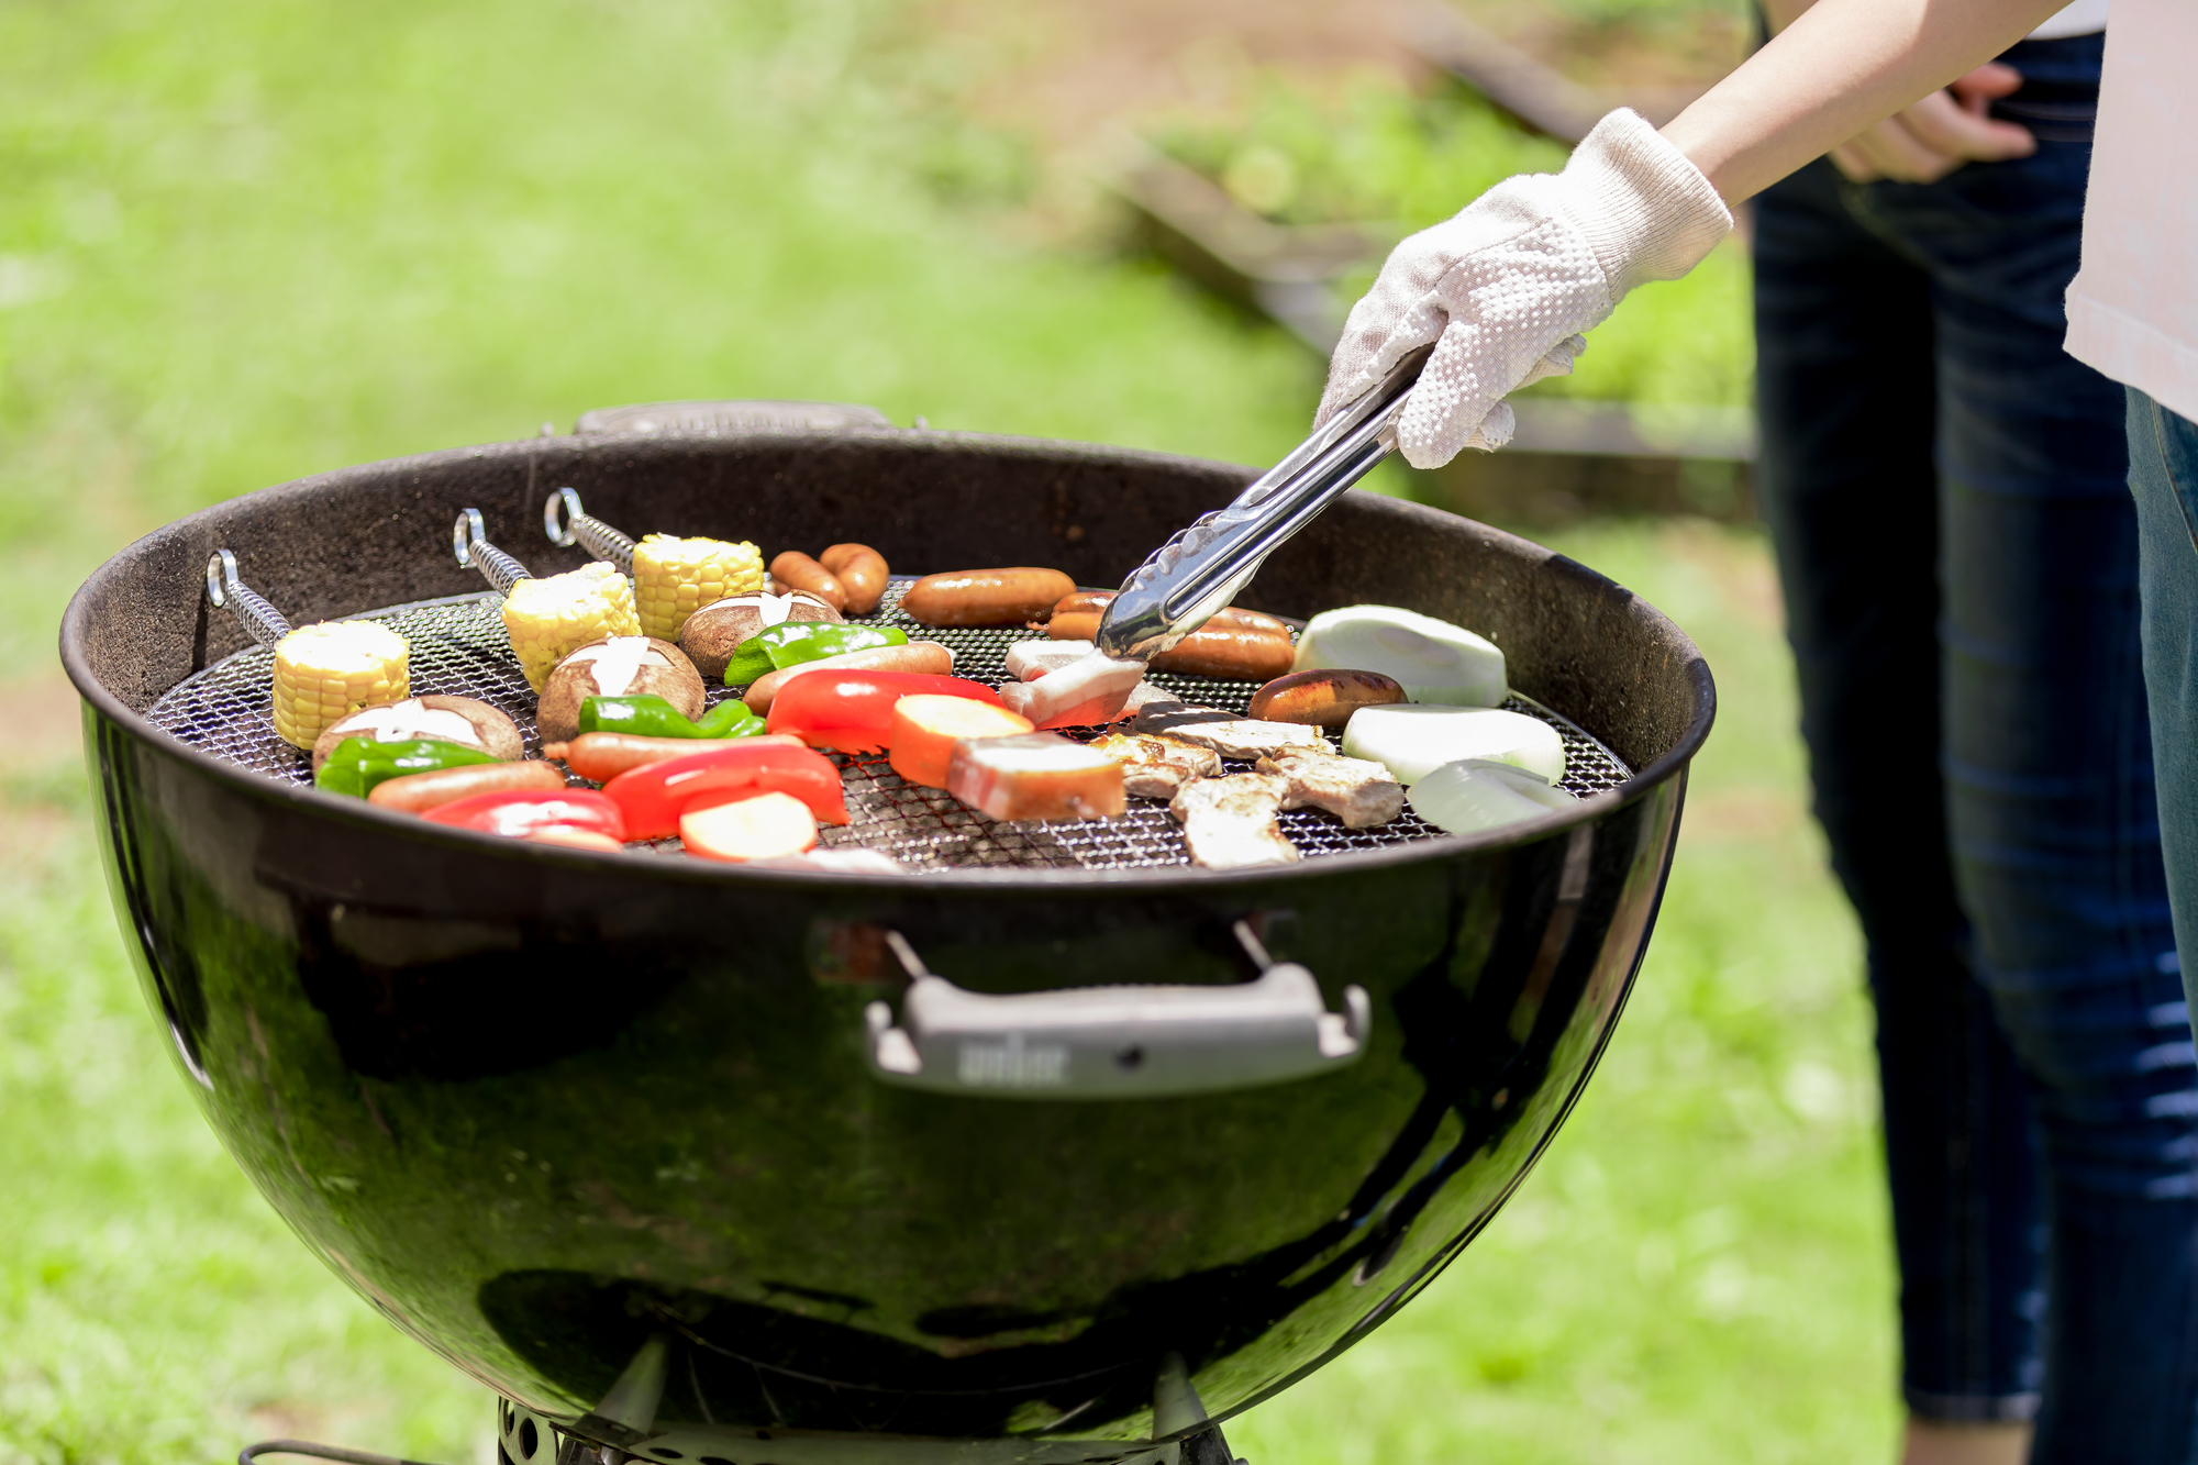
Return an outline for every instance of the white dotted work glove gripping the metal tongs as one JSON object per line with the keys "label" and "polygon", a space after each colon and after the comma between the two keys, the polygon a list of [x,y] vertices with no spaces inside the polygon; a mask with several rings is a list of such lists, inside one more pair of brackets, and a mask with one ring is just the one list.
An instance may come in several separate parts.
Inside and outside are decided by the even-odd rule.
{"label": "white dotted work glove gripping the metal tongs", "polygon": [[1512,436],[1503,396],[1572,372],[1578,334],[1644,279],[1677,279],[1732,231],[1701,169],[1640,114],[1596,123],[1561,174],[1521,174],[1411,235],[1352,306],[1312,425],[1435,341],[1405,398],[1398,447],[1440,469]]}

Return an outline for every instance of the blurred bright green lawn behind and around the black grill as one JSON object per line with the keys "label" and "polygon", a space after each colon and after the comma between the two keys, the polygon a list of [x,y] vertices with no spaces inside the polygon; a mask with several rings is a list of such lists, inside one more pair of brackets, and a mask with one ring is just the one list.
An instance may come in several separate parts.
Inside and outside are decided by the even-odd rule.
{"label": "blurred bright green lawn behind and around the black grill", "polygon": [[[664,396],[1270,460],[1317,372],[1000,242],[899,11],[0,0],[0,1465],[319,1434],[481,1461],[486,1395],[297,1247],[189,1104],[88,834],[59,607],[200,504]],[[1400,1320],[1231,1428],[1297,1461],[1873,1458],[1890,1276],[1855,937],[1756,537],[1563,539],[1725,695],[1605,1071]]]}

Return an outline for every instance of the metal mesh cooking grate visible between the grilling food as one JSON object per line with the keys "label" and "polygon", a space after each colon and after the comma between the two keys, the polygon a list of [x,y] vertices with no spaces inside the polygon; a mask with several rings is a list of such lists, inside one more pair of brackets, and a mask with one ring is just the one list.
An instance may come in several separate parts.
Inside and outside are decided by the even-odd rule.
{"label": "metal mesh cooking grate visible between the grilling food", "polygon": [[[906,583],[901,579],[892,583],[886,603],[868,618],[873,625],[897,625],[910,634],[910,640],[928,638],[945,642],[954,649],[956,675],[985,684],[1007,680],[1007,649],[1018,640],[1029,640],[1031,631],[1004,627],[941,631],[921,627],[899,614],[899,596]],[[365,612],[358,618],[380,620],[411,642],[413,695],[451,693],[479,697],[510,713],[512,722],[525,735],[528,752],[534,754],[541,748],[541,739],[534,735],[534,693],[528,680],[519,675],[519,662],[512,660],[497,605],[499,596],[484,592],[448,601],[396,605],[391,609]],[[275,737],[275,722],[268,715],[273,660],[268,649],[251,647],[215,662],[171,686],[147,711],[147,719],[176,741],[211,752],[237,768],[248,768],[284,783],[310,783],[310,759]],[[1253,691],[1257,691],[1251,682],[1211,682],[1207,678],[1169,673],[1154,673],[1152,680],[1194,706],[1213,706],[1231,713],[1242,713]],[[730,695],[734,693],[717,686],[710,691],[710,702],[717,704]],[[1609,748],[1550,708],[1525,697],[1512,697],[1503,706],[1541,717],[1558,730],[1565,739],[1565,787],[1574,794],[1585,798],[1587,794],[1618,787],[1631,776],[1631,770]],[[1070,732],[1070,737],[1075,735]],[[1189,856],[1183,849],[1183,834],[1167,814],[1167,805],[1150,798],[1132,798],[1130,812],[1121,818],[1057,825],[998,823],[958,803],[952,794],[901,781],[881,754],[831,757],[844,768],[846,807],[853,823],[842,829],[824,829],[824,845],[877,849],[917,869],[1139,869],[1189,864]],[[1229,772],[1246,768],[1251,765],[1229,763]],[[1306,856],[1376,849],[1437,838],[1442,834],[1409,807],[1400,818],[1378,829],[1345,829],[1314,809],[1286,812],[1281,827],[1290,836],[1290,842]],[[677,853],[679,840],[662,840],[651,849]]]}

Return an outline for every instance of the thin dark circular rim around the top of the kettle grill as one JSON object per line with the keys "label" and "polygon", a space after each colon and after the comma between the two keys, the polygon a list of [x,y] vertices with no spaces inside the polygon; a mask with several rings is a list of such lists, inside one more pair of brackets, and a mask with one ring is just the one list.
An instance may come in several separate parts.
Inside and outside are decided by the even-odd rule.
{"label": "thin dark circular rim around the top of the kettle grill", "polygon": [[[862,436],[884,436],[886,431],[888,429],[877,429],[877,433],[862,433]],[[890,429],[890,431],[897,433],[901,429]],[[767,444],[780,444],[780,447],[804,447],[804,444],[831,442],[831,440],[837,440],[837,438],[844,438],[844,436],[846,433],[754,433],[750,440],[754,440],[754,442],[767,442]],[[1079,460],[1086,460],[1086,462],[1108,462],[1108,464],[1121,464],[1121,466],[1158,466],[1158,464],[1167,464],[1167,466],[1174,466],[1174,469],[1196,469],[1196,471],[1205,471],[1205,473],[1226,473],[1226,475],[1251,475],[1253,473],[1253,471],[1242,469],[1237,464],[1224,464],[1224,462],[1205,460],[1205,458],[1185,458],[1185,455],[1176,455],[1176,453],[1154,453],[1154,451],[1143,451],[1143,449],[1114,449],[1114,447],[1092,444],[1092,442],[1068,442],[1068,440],[1051,440],[1051,438],[1018,438],[1018,436],[996,436],[996,433],[934,433],[934,431],[921,431],[921,433],[917,433],[917,431],[910,431],[910,436],[921,436],[925,442],[958,444],[958,447],[978,447],[978,449],[985,449],[985,451],[1007,451],[1007,453],[1037,455],[1037,458],[1048,458],[1048,460],[1059,458],[1059,455],[1073,455],[1073,458],[1079,458]],[[809,869],[754,869],[754,867],[745,867],[745,864],[725,864],[725,862],[717,862],[717,860],[684,860],[684,858],[681,860],[666,860],[666,858],[653,858],[653,856],[635,856],[633,851],[622,851],[622,853],[613,856],[613,853],[598,853],[598,851],[587,851],[587,849],[569,849],[569,847],[558,847],[558,845],[541,845],[541,842],[534,842],[534,840],[510,840],[510,838],[501,838],[501,836],[495,836],[495,834],[481,834],[481,831],[470,831],[470,829],[455,829],[455,827],[448,827],[448,825],[431,825],[431,823],[413,818],[409,814],[398,814],[398,812],[391,812],[391,809],[380,809],[380,807],[376,807],[371,803],[365,803],[365,801],[358,801],[358,798],[345,798],[345,796],[338,796],[338,794],[325,794],[325,792],[314,790],[314,787],[275,783],[275,781],[270,781],[270,779],[266,779],[266,776],[262,776],[257,772],[251,772],[251,770],[237,768],[235,763],[218,759],[211,752],[202,752],[198,748],[191,748],[189,743],[185,743],[185,741],[176,739],[174,735],[169,735],[165,728],[154,726],[152,719],[147,719],[143,713],[125,706],[123,700],[116,693],[112,693],[92,673],[86,647],[88,647],[88,642],[92,638],[92,598],[101,590],[101,583],[110,574],[121,574],[125,561],[132,561],[132,559],[138,559],[138,557],[158,557],[158,550],[165,548],[167,541],[191,539],[200,530],[211,532],[213,528],[222,526],[222,521],[231,513],[235,513],[235,506],[240,502],[244,502],[244,499],[257,499],[262,495],[299,497],[299,499],[308,499],[310,502],[312,495],[321,493],[325,486],[336,484],[336,482],[341,482],[343,477],[347,477],[349,473],[356,473],[356,471],[378,469],[378,471],[387,473],[391,469],[404,469],[404,466],[411,466],[411,464],[422,464],[424,466],[424,464],[448,464],[448,462],[468,462],[468,460],[470,462],[479,462],[479,460],[484,460],[484,458],[488,458],[492,453],[497,453],[497,455],[501,455],[501,453],[514,453],[514,455],[528,458],[530,453],[539,451],[545,442],[550,442],[550,440],[543,440],[543,438],[521,438],[521,440],[499,442],[499,444],[444,449],[444,451],[435,451],[435,453],[418,453],[418,455],[409,455],[409,458],[378,460],[374,464],[358,464],[354,469],[334,469],[330,473],[317,473],[317,475],[301,477],[301,480],[295,480],[295,482],[277,484],[277,486],[270,486],[270,488],[259,488],[259,491],[246,493],[246,495],[237,495],[235,499],[224,499],[220,504],[209,504],[207,508],[200,508],[200,510],[196,510],[191,515],[185,515],[182,519],[174,519],[171,524],[167,524],[163,528],[156,528],[149,535],[143,535],[143,537],[134,539],[132,543],[123,546],[121,550],[116,550],[90,576],[86,576],[84,585],[77,587],[77,592],[68,601],[68,609],[62,614],[62,636],[59,636],[59,640],[62,640],[62,647],[59,647],[62,649],[62,667],[68,673],[68,680],[75,684],[77,695],[88,704],[88,708],[92,713],[97,713],[99,717],[103,717],[108,724],[116,726],[119,730],[130,732],[138,743],[145,743],[152,752],[158,752],[158,754],[169,757],[169,759],[178,759],[185,765],[196,768],[200,774],[207,774],[207,776],[215,779],[224,787],[229,787],[229,790],[233,790],[233,792],[237,792],[237,794],[242,794],[246,798],[281,805],[281,807],[286,807],[288,812],[292,812],[297,816],[328,818],[328,820],[336,820],[336,823],[352,823],[352,825],[358,825],[358,827],[365,827],[365,829],[380,829],[385,834],[393,834],[393,836],[400,836],[400,838],[402,836],[426,838],[429,842],[440,842],[440,845],[453,847],[453,849],[473,849],[473,851],[484,853],[484,856],[501,856],[506,860],[521,860],[521,862],[547,862],[552,867],[567,867],[567,869],[582,869],[582,871],[585,869],[622,869],[624,871],[624,869],[631,869],[631,867],[629,864],[609,864],[609,862],[642,858],[642,860],[646,860],[644,869],[648,869],[648,871],[653,871],[657,875],[673,878],[673,880],[679,880],[679,882],[703,884],[703,886],[728,884],[728,882],[730,884],[761,882],[765,889],[767,886],[782,886],[782,889],[826,889],[826,891],[903,891],[906,893],[906,891],[912,891],[912,889],[956,889],[956,891],[1033,891],[1033,893],[1062,895],[1062,893],[1070,893],[1070,891],[1079,891],[1079,889],[1092,889],[1092,891],[1106,891],[1106,893],[1117,893],[1117,891],[1185,891],[1185,889],[1189,889],[1189,891],[1222,893],[1222,891],[1231,891],[1231,889],[1255,889],[1255,886],[1257,889],[1273,889],[1273,886],[1290,884],[1290,882],[1297,882],[1297,880],[1319,880],[1323,873],[1374,873],[1374,871],[1380,871],[1380,869],[1391,869],[1391,867],[1402,867],[1402,864],[1420,864],[1420,862],[1440,862],[1440,860],[1455,860],[1455,858],[1481,856],[1481,853],[1488,853],[1488,851],[1501,851],[1501,849],[1514,849],[1514,847],[1534,845],[1534,842],[1541,842],[1541,840],[1567,834],[1567,831],[1572,831],[1576,827],[1602,823],[1602,818],[1607,818],[1616,809],[1622,809],[1622,807],[1627,807],[1627,805],[1631,805],[1631,803],[1635,803],[1640,798],[1651,796],[1659,785],[1664,785],[1664,783],[1668,783],[1673,779],[1679,781],[1679,796],[1684,801],[1686,765],[1701,750],[1701,743],[1708,739],[1710,728],[1712,728],[1712,724],[1717,719],[1717,684],[1714,684],[1714,680],[1710,675],[1708,662],[1701,656],[1701,649],[1695,647],[1692,638],[1688,638],[1686,631],[1681,631],[1677,623],[1673,623],[1668,616],[1664,616],[1659,609],[1655,609],[1653,605],[1648,605],[1640,596],[1631,596],[1629,594],[1631,614],[1646,616],[1651,620],[1651,629],[1662,631],[1662,640],[1666,640],[1666,642],[1684,649],[1684,653],[1686,653],[1686,667],[1681,669],[1681,675],[1686,678],[1686,684],[1688,684],[1688,693],[1690,693],[1690,702],[1692,702],[1692,713],[1688,717],[1686,728],[1679,732],[1679,737],[1673,741],[1670,748],[1666,748],[1662,754],[1657,754],[1648,763],[1635,768],[1633,776],[1627,779],[1624,783],[1620,783],[1618,787],[1600,792],[1600,794],[1594,794],[1589,798],[1583,798],[1572,809],[1552,812],[1552,814],[1545,814],[1541,818],[1534,818],[1534,820],[1528,820],[1528,823],[1521,823],[1521,825],[1512,825],[1512,827],[1506,827],[1506,829],[1497,829],[1497,831],[1484,831],[1484,834],[1444,834],[1444,836],[1435,836],[1435,838],[1407,840],[1407,842],[1385,845],[1385,847],[1376,847],[1376,849],[1350,849],[1350,851],[1321,853],[1314,860],[1301,860],[1297,864],[1266,864],[1266,867],[1251,867],[1251,869],[1202,869],[1202,867],[1196,867],[1196,864],[1174,864],[1174,867],[1156,867],[1156,869],[1029,869],[1029,867],[1009,867],[1009,869],[993,867],[993,869],[983,869],[983,867],[945,867],[945,869],[921,869],[921,871],[895,873],[895,875],[886,875],[886,873],[870,875],[870,873],[809,871]],[[598,438],[596,442],[602,442],[602,440]],[[576,440],[576,444],[582,447],[582,449],[589,447],[587,440]],[[1380,497],[1380,495],[1369,495],[1365,491],[1354,488],[1352,497]],[[1433,510],[1433,508],[1427,508],[1427,506],[1416,506],[1416,508],[1420,508],[1422,513],[1429,513],[1429,515],[1442,513],[1442,510]],[[1444,517],[1457,517],[1457,519],[1462,519],[1462,515],[1444,515]],[[1468,519],[1468,524],[1475,524],[1475,521]],[[1545,554],[1545,557],[1552,557],[1552,559],[1558,559],[1558,561],[1565,561],[1565,563],[1574,563],[1574,565],[1578,563],[1578,561],[1572,561],[1569,557],[1554,554],[1552,550],[1547,550],[1543,546],[1536,546],[1530,539],[1523,539],[1523,537],[1517,537],[1517,535],[1508,535],[1503,530],[1495,530],[1495,528],[1488,528],[1488,526],[1477,526],[1477,528],[1481,528],[1484,532],[1495,535],[1499,539],[1506,539],[1506,541],[1510,541],[1510,543],[1514,543],[1519,548],[1525,548],[1525,550],[1532,550],[1532,552],[1539,552],[1539,554]],[[1587,570],[1585,565],[1580,565],[1580,568]],[[1594,570],[1587,570],[1587,572],[1596,574]],[[1605,579],[1605,576],[1596,576],[1596,579]],[[435,598],[435,596],[429,596],[429,598]],[[213,658],[213,660],[222,660],[222,658]],[[180,678],[178,678],[178,682],[180,682]],[[147,708],[152,706],[152,702],[156,702],[160,695],[165,695],[178,682],[169,682],[158,693],[154,693],[152,697],[147,697]],[[1532,695],[1532,693],[1521,693],[1521,695]],[[1536,697],[1536,702],[1541,702],[1541,700]],[[1552,706],[1547,702],[1543,702],[1543,706],[1550,706],[1550,711],[1558,713],[1561,717],[1565,717],[1567,722],[1572,722],[1574,726],[1578,726],[1580,730],[1585,730],[1596,741],[1602,741],[1605,746],[1609,743],[1609,737],[1605,732],[1598,732],[1596,728],[1589,728],[1587,724],[1578,722],[1565,708]]]}

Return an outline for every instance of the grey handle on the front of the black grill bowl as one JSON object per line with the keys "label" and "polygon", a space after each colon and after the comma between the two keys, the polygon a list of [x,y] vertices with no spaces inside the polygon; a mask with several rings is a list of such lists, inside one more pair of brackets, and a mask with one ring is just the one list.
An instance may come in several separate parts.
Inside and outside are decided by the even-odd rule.
{"label": "grey handle on the front of the black grill bowl", "polygon": [[1132,1100],[1255,1089],[1347,1067],[1365,1051],[1374,1003],[1343,990],[1328,1012],[1321,983],[1295,961],[1266,961],[1237,985],[1073,988],[993,996],[923,970],[897,933],[886,944],[908,968],[901,1021],[870,1003],[866,1051],[879,1082],[963,1098]]}

